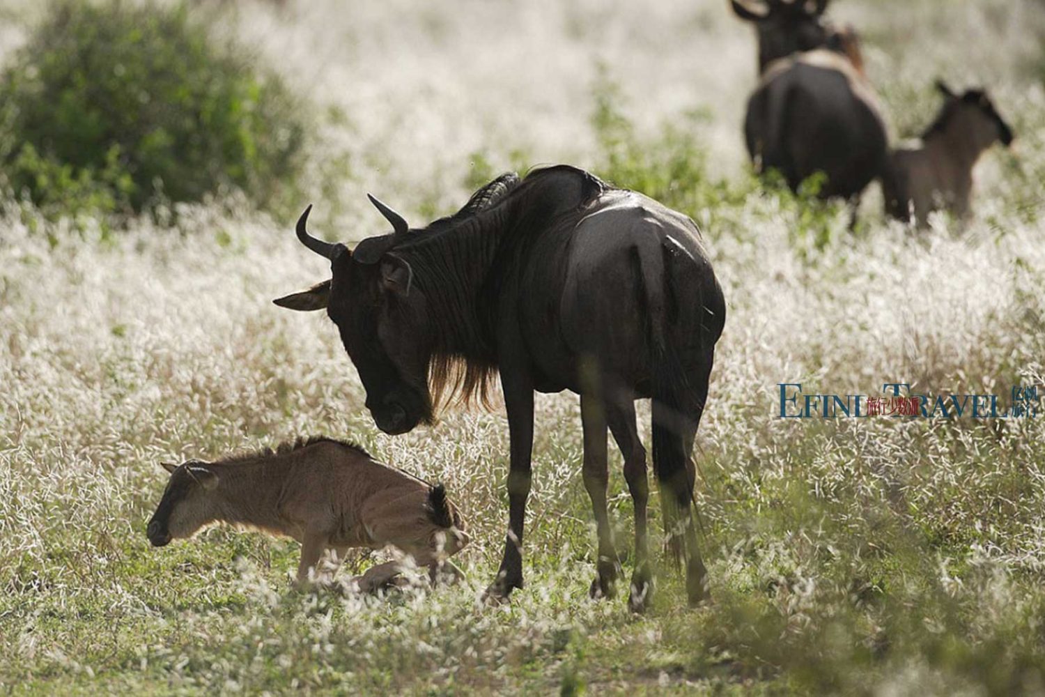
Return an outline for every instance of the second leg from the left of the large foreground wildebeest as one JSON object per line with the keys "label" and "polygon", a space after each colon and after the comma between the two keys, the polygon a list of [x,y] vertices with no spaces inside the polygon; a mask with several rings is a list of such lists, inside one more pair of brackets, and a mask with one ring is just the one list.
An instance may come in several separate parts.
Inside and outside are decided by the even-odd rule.
{"label": "second leg from the left of the large foreground wildebeest", "polygon": [[612,598],[616,591],[618,566],[613,532],[606,510],[606,486],[609,473],[606,465],[606,406],[602,399],[581,395],[581,422],[584,428],[584,488],[591,498],[596,530],[599,533],[598,573],[591,582],[593,598]]}

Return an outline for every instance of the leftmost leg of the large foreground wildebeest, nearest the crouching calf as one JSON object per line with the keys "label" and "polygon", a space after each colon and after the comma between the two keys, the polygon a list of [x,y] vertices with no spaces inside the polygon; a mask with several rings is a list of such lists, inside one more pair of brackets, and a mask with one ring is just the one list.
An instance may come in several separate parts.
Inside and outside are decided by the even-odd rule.
{"label": "leftmost leg of the large foreground wildebeest, nearest the crouching calf", "polygon": [[522,524],[526,502],[530,496],[530,465],[533,454],[533,381],[522,369],[502,365],[501,387],[508,412],[511,461],[508,470],[508,535],[505,556],[493,583],[486,589],[488,599],[505,599],[514,588],[522,587]]}

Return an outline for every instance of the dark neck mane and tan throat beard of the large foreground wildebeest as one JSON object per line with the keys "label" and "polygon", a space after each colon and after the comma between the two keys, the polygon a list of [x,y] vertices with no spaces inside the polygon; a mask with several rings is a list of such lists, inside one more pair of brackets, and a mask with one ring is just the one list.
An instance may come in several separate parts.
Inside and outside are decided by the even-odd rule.
{"label": "dark neck mane and tan throat beard of the large foreground wildebeest", "polygon": [[[550,210],[547,201],[543,206],[531,205],[534,196],[547,195],[547,187],[540,185],[556,176],[579,183],[573,205],[562,210]],[[409,255],[414,282],[423,289],[437,324],[437,349],[428,366],[436,411],[452,403],[492,406],[490,391],[497,368],[486,339],[490,308],[475,307],[474,299],[489,302],[497,296],[507,269],[525,254],[533,231],[547,230],[551,218],[563,210],[579,219],[588,204],[611,188],[568,165],[534,168],[524,179],[508,172],[479,189],[454,215],[396,245],[398,254]],[[502,233],[511,239],[498,246]]]}

